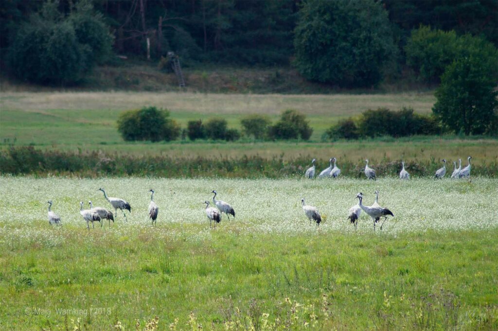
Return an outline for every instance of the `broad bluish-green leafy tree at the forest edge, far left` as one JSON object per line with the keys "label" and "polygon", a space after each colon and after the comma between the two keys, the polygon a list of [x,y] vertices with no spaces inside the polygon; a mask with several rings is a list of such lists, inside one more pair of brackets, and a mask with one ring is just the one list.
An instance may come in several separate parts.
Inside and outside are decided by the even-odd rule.
{"label": "broad bluish-green leafy tree at the forest edge, far left", "polygon": [[57,3],[46,2],[17,30],[8,51],[17,77],[37,83],[75,83],[109,53],[112,38],[90,2],[79,2],[67,16],[59,12]]}

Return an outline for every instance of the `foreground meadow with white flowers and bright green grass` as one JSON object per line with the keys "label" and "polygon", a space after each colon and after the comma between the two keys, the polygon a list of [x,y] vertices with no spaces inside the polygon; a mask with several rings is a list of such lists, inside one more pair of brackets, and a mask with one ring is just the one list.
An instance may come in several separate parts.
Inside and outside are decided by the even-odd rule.
{"label": "foreground meadow with white flowers and bright green grass", "polygon": [[[79,202],[111,209],[100,187],[131,214],[89,231]],[[497,187],[1,177],[0,329],[497,329]],[[375,189],[395,217],[373,232],[363,214],[355,232],[349,208],[358,192],[371,205]],[[236,211],[216,230],[203,207],[212,190]],[[301,198],[319,209],[318,228]],[[62,226],[48,224],[48,200]]]}

